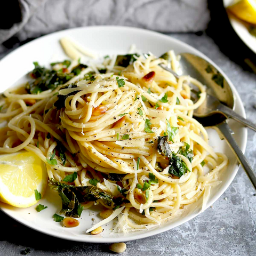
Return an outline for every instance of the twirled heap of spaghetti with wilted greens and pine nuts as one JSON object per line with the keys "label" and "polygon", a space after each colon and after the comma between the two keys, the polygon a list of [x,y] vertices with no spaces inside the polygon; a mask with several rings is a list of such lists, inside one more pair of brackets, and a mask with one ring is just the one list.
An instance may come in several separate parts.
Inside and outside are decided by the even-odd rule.
{"label": "twirled heap of spaghetti with wilted greens and pine nuts", "polygon": [[[152,54],[126,55],[123,62],[106,58],[89,67],[53,63],[52,73],[35,63],[28,84],[4,92],[0,152],[32,151],[55,185],[94,188],[91,199],[81,202],[74,194],[74,202],[113,210],[102,224],[117,217],[115,231],[155,227],[201,197],[205,207],[228,159],[214,152],[193,118],[205,86],[162,69],[160,63],[179,72],[178,57],[167,54],[170,63]],[[200,92],[197,102],[191,84]]]}

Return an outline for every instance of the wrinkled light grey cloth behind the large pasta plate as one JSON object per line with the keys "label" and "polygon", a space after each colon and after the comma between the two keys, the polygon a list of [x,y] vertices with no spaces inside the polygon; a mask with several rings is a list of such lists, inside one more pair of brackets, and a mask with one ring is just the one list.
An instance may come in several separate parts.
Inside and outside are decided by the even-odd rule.
{"label": "wrinkled light grey cloth behind the large pasta plate", "polygon": [[96,25],[119,25],[171,32],[206,29],[206,0],[17,0],[21,21],[0,29],[0,43],[19,41],[54,31]]}

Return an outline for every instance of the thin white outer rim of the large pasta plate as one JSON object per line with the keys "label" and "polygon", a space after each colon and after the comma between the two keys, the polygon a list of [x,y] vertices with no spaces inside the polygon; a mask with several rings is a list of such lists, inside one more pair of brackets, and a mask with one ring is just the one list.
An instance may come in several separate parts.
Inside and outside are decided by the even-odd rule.
{"label": "thin white outer rim of the large pasta plate", "polygon": [[[151,30],[148,30],[148,29],[142,29],[142,28],[135,28],[135,27],[126,27],[126,26],[90,26],[90,27],[78,27],[78,28],[69,28],[69,29],[64,29],[64,30],[60,30],[60,31],[57,31],[57,32],[54,32],[54,33],[50,33],[50,34],[47,34],[47,35],[44,35],[42,37],[39,37],[39,38],[36,38],[36,39],[33,39],[32,41],[18,47],[17,49],[13,50],[11,53],[7,54],[3,59],[0,60],[0,65],[5,62],[6,59],[10,58],[10,56],[12,56],[13,54],[16,54],[16,52],[18,51],[22,51],[24,47],[28,47],[30,44],[33,44],[34,42],[38,42],[38,41],[43,41],[45,38],[47,37],[51,37],[53,35],[58,35],[58,34],[61,34],[63,33],[64,31],[68,33],[68,31],[71,31],[71,30],[93,30],[93,29],[122,29],[122,30],[130,30],[130,31],[139,31],[141,33],[145,33],[145,34],[151,34],[153,36],[156,36],[156,37],[160,37],[160,38],[163,38],[163,39],[168,39],[171,42],[174,42],[174,43],[177,43],[181,46],[184,46],[186,47],[187,49],[193,51],[193,52],[196,52],[197,55],[203,57],[205,60],[209,61],[214,67],[218,68],[221,73],[223,74],[223,76],[225,77],[225,79],[227,80],[227,82],[230,84],[230,87],[231,87],[231,90],[233,91],[234,93],[234,96],[235,96],[235,102],[239,102],[239,105],[241,105],[241,111],[242,111],[242,116],[243,117],[246,117],[246,114],[245,114],[245,109],[244,109],[244,106],[243,106],[243,103],[242,103],[242,99],[240,98],[234,84],[230,81],[230,79],[227,77],[227,75],[223,72],[223,70],[218,66],[216,65],[211,59],[209,59],[204,53],[202,53],[201,51],[195,49],[193,46],[190,46],[189,44],[185,43],[185,42],[182,42],[180,41],[179,39],[177,38],[173,38],[172,36],[169,36],[169,35],[164,35],[164,34],[161,34],[161,33],[158,33],[156,31],[151,31]],[[246,143],[247,143],[247,129],[244,128],[244,127],[241,127],[243,133],[244,133],[244,139],[242,141],[242,146],[241,146],[241,150],[243,151],[243,153],[245,152],[245,148],[246,148]],[[232,175],[230,175],[229,177],[229,180],[226,182],[226,185],[221,188],[217,193],[215,193],[213,195],[213,197],[207,202],[207,206],[206,206],[206,209],[213,203],[215,203],[219,197],[225,193],[225,191],[227,190],[227,188],[230,186],[230,183],[234,180],[236,174],[237,174],[237,171],[238,171],[238,168],[239,168],[239,165],[235,165],[234,167],[234,170],[233,170],[233,173]],[[1,202],[0,202],[1,203]],[[206,210],[205,209],[205,210]],[[34,225],[34,223],[30,223],[29,221],[27,220],[24,220],[24,219],[21,219],[21,218],[18,218],[16,216],[12,216],[11,214],[9,214],[8,212],[5,212],[4,209],[2,209],[1,207],[1,204],[0,204],[0,210],[2,212],[4,212],[6,215],[8,215],[9,217],[11,217],[12,219],[20,222],[22,225],[25,225],[29,228],[32,228],[36,231],[39,231],[43,234],[46,234],[46,235],[50,235],[50,236],[53,236],[53,237],[57,237],[57,238],[62,238],[62,239],[66,239],[66,240],[69,240],[69,241],[77,241],[77,242],[86,242],[86,243],[115,243],[115,242],[128,242],[128,241],[133,241],[133,240],[136,240],[136,239],[141,239],[141,238],[146,238],[146,237],[150,237],[150,236],[153,236],[153,235],[157,235],[157,234],[161,234],[167,230],[170,230],[170,229],[173,229],[175,227],[178,227],[180,225],[182,225],[183,223],[191,220],[191,219],[194,219],[197,215],[199,215],[201,213],[201,211],[198,211],[197,213],[191,213],[189,215],[189,217],[184,217],[178,221],[176,221],[175,223],[172,223],[171,227],[170,225],[166,225],[164,227],[162,227],[161,229],[152,229],[152,230],[148,230],[146,231],[145,233],[140,233],[140,234],[135,234],[134,236],[132,237],[95,237],[95,238],[87,238],[87,236],[85,235],[84,237],[77,237],[77,236],[68,236],[66,234],[61,234],[61,233],[58,233],[58,231],[53,231],[53,230],[40,230],[38,226]]]}

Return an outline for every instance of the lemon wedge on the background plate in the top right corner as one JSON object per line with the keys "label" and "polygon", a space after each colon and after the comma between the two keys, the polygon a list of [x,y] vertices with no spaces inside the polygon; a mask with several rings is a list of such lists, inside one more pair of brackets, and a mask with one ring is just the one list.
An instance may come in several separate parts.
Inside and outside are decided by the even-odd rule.
{"label": "lemon wedge on the background plate in the top right corner", "polygon": [[256,25],[256,0],[236,1],[227,9],[237,18]]}

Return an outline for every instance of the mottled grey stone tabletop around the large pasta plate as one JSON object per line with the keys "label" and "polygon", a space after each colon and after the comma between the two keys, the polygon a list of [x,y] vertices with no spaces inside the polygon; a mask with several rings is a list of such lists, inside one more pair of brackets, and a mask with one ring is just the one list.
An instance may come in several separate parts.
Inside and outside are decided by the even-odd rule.
{"label": "mottled grey stone tabletop around the large pasta plate", "polygon": [[[197,34],[172,34],[202,51],[228,75],[243,100],[247,116],[256,119],[256,77],[245,59],[255,61],[225,18],[212,15],[209,28]],[[5,54],[2,54],[2,57]],[[247,63],[248,60],[246,60]],[[256,63],[256,62],[254,62]],[[254,69],[255,70],[255,69]],[[256,133],[249,131],[246,157],[256,169]],[[217,202],[193,220],[163,234],[127,242],[122,255],[256,255],[256,191],[242,168]],[[0,255],[107,256],[107,244],[65,241],[29,229],[0,212]]]}

